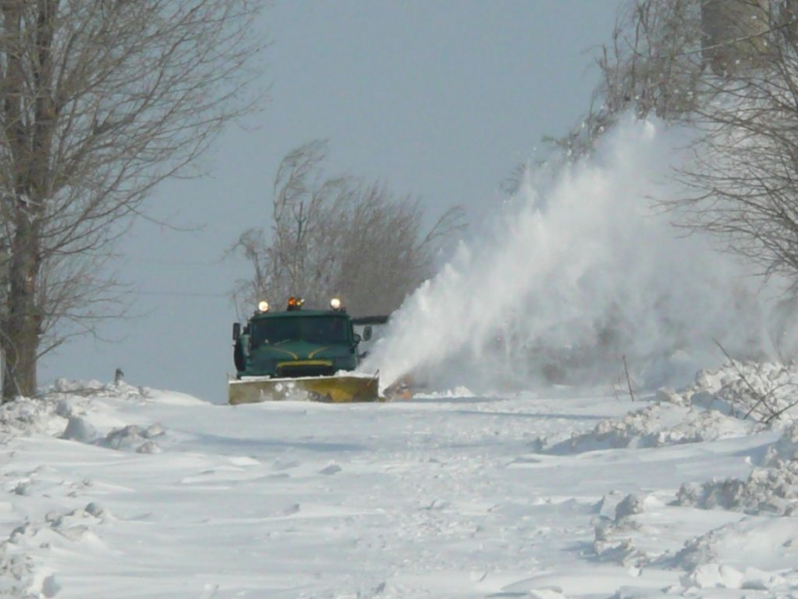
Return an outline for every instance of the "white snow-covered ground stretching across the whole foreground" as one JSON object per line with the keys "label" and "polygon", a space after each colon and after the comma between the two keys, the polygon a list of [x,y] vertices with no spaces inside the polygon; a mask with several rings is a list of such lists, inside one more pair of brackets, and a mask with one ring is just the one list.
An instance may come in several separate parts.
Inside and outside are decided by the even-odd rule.
{"label": "white snow-covered ground stretching across the whole foreground", "polygon": [[231,407],[59,382],[0,410],[0,596],[795,596],[795,384]]}

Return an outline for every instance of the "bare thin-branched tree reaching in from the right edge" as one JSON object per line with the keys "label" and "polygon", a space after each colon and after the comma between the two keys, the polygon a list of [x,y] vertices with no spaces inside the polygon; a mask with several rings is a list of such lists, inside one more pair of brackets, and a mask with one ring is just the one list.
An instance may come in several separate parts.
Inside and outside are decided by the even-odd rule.
{"label": "bare thin-branched tree reaching in from the right edge", "polygon": [[[733,64],[724,59],[721,76],[706,82],[711,99],[694,110],[693,160],[679,172],[690,192],[670,206],[681,210],[681,225],[715,233],[725,248],[798,289],[796,6],[749,0],[755,27],[732,29],[740,35],[727,40]],[[708,58],[717,64],[717,52]]]}

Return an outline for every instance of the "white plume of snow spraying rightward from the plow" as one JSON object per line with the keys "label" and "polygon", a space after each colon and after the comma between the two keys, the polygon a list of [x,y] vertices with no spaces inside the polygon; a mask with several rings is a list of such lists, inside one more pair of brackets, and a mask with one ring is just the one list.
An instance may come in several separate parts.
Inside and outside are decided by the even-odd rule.
{"label": "white plume of snow spraying rightward from the plow", "polygon": [[490,391],[606,382],[626,365],[638,384],[683,384],[723,362],[721,348],[761,358],[763,280],[655,209],[677,197],[674,137],[630,120],[590,158],[530,170],[491,233],[395,312],[362,369],[383,388],[411,374]]}

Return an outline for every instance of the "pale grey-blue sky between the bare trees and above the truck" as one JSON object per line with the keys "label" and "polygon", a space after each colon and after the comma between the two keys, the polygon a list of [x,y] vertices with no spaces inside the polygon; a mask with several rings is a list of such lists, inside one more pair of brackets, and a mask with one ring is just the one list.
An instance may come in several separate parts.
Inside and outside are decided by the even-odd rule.
{"label": "pale grey-blue sky between the bare trees and above the truck", "polygon": [[224,252],[268,227],[280,160],[329,138],[333,172],[379,179],[435,217],[482,217],[519,162],[587,110],[597,44],[621,0],[284,0],[259,23],[270,101],[207,155],[209,174],[162,185],[121,247],[133,313],[43,360],[40,382],[113,380],[226,400],[234,372],[231,288],[247,273]]}

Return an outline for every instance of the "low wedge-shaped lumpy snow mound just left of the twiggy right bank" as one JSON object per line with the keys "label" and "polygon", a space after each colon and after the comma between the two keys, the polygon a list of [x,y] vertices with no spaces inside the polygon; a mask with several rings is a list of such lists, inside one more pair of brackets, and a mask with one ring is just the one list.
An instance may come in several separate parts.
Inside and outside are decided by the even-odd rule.
{"label": "low wedge-shaped lumpy snow mound just left of the twiggy right bank", "polygon": [[715,441],[747,435],[750,427],[713,410],[657,402],[626,414],[622,420],[599,422],[590,432],[547,447],[542,453],[583,453],[623,447],[661,447]]}

